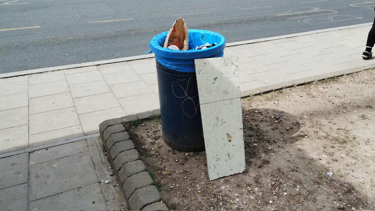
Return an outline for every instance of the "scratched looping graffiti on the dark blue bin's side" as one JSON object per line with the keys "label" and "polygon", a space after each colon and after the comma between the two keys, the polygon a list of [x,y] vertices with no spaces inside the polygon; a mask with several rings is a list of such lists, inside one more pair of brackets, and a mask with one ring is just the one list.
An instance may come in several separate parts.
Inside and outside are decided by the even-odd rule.
{"label": "scratched looping graffiti on the dark blue bin's side", "polygon": [[[172,83],[172,91],[175,97],[185,98],[181,103],[182,111],[184,112],[186,117],[192,118],[195,117],[196,113],[198,112],[199,97],[198,93],[188,93],[189,85],[194,85],[193,83],[190,83],[190,79],[191,77],[187,81],[186,88],[184,88],[184,82],[186,81],[186,79],[178,80],[179,82],[174,81]],[[190,94],[192,94],[193,96]],[[194,102],[195,99],[198,99],[197,103]]]}

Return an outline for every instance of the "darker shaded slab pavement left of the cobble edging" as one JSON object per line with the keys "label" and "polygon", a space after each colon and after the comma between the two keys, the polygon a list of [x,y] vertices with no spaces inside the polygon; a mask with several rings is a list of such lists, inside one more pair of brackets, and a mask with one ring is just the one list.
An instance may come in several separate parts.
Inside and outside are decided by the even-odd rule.
{"label": "darker shaded slab pavement left of the cobble edging", "polygon": [[121,210],[124,198],[99,143],[95,137],[1,158],[1,210]]}

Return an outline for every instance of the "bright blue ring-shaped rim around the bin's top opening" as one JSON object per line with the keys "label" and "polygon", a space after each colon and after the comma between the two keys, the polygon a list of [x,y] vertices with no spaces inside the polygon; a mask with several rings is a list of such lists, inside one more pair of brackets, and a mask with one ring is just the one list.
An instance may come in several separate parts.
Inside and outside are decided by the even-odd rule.
{"label": "bright blue ring-shaped rim around the bin's top opening", "polygon": [[[160,33],[154,36],[150,41],[150,49],[156,56],[161,56],[165,58],[172,58],[172,59],[195,59],[195,58],[207,58],[207,55],[216,55],[222,52],[225,48],[225,37],[219,33],[207,30],[198,30],[198,29],[189,29],[189,37],[190,33],[206,33],[206,34],[215,34],[217,37],[220,38],[219,42],[215,46],[207,49],[201,50],[194,50],[190,49],[187,51],[178,51],[172,50],[169,48],[163,48],[163,46],[159,45],[159,40],[165,40],[168,31]],[[164,43],[163,43],[164,44]]]}

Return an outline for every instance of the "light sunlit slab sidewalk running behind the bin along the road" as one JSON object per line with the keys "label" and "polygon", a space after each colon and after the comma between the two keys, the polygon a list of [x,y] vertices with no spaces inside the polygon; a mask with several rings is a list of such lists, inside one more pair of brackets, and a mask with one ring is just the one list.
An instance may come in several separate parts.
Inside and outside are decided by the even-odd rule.
{"label": "light sunlit slab sidewalk running behind the bin along the road", "polygon": [[[370,25],[227,47],[242,96],[375,67]],[[0,79],[0,154],[98,132],[104,120],[159,108],[154,58]]]}

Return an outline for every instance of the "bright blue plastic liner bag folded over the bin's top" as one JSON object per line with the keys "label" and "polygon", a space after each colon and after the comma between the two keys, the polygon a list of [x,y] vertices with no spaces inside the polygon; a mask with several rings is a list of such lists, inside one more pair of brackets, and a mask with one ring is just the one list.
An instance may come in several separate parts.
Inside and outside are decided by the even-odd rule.
{"label": "bright blue plastic liner bag folded over the bin's top", "polygon": [[[216,32],[206,30],[189,30],[189,50],[178,51],[163,48],[168,31],[156,35],[150,41],[150,49],[155,54],[155,58],[164,67],[178,72],[195,72],[194,59],[223,57],[225,48],[225,38]],[[217,43],[207,49],[195,50],[196,46],[204,43]]]}

